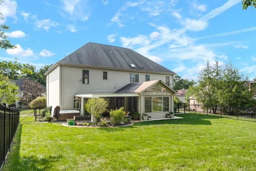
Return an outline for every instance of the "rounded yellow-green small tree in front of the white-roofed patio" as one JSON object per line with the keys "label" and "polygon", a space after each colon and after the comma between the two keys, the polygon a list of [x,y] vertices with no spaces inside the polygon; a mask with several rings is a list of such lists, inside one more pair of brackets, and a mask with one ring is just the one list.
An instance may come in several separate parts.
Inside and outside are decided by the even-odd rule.
{"label": "rounded yellow-green small tree in front of the white-roofed patio", "polygon": [[92,117],[94,117],[96,124],[100,118],[100,114],[106,110],[107,106],[108,103],[104,98],[90,98],[85,104],[87,112],[90,113]]}

